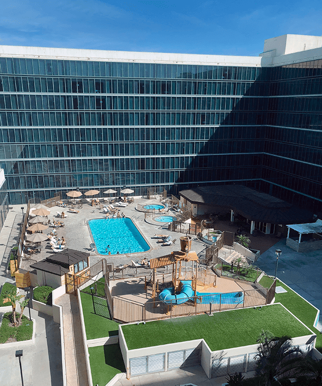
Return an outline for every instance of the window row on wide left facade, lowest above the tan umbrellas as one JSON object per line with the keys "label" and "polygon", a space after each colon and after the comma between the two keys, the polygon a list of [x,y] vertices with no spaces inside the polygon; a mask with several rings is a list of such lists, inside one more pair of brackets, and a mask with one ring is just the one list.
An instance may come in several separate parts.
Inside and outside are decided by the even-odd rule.
{"label": "window row on wide left facade, lowest above the tan umbrellas", "polygon": [[[127,172],[127,173],[81,173],[81,174],[54,174],[29,175],[29,176],[7,176],[10,186],[10,193],[16,189],[69,189],[77,187],[98,187],[98,186],[140,186],[155,184],[185,183],[187,178],[195,183],[214,183],[218,181],[236,181],[258,179],[261,175],[261,168],[236,167],[216,169],[208,168],[201,170],[189,169],[185,171],[148,171],[148,172]],[[44,195],[44,192],[39,192]],[[42,197],[42,196],[41,196]]]}

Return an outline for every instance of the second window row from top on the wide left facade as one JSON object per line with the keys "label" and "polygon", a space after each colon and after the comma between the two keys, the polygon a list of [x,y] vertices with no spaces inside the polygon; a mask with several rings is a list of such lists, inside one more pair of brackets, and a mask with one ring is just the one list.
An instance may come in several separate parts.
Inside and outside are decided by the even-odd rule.
{"label": "second window row from top on the wide left facade", "polygon": [[0,91],[84,94],[267,95],[264,82],[0,77]]}

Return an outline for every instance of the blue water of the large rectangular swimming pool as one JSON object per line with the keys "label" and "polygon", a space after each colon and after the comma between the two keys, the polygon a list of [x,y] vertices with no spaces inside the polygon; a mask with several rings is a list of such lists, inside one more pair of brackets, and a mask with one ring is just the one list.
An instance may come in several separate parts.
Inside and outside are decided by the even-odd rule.
{"label": "blue water of the large rectangular swimming pool", "polygon": [[[145,252],[150,249],[131,219],[95,219],[88,221],[98,253],[111,255]],[[109,248],[106,251],[107,245]]]}

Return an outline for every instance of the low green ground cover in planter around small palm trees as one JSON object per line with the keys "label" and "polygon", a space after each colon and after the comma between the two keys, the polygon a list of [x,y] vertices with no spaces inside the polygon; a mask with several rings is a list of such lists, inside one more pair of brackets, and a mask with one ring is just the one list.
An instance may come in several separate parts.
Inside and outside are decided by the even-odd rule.
{"label": "low green ground cover in planter around small palm trees", "polygon": [[0,343],[5,343],[8,338],[15,338],[17,341],[29,340],[32,338],[33,321],[30,321],[26,316],[22,316],[21,326],[12,327],[11,323],[12,312],[7,312],[3,315],[0,327]]}

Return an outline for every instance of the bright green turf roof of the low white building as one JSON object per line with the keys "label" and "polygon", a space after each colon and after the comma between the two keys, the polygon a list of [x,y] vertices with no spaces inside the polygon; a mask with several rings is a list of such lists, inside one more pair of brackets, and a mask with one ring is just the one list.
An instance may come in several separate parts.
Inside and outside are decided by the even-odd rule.
{"label": "bright green turf roof of the low white building", "polygon": [[204,338],[212,351],[256,344],[262,329],[274,336],[311,332],[280,304],[121,327],[129,350]]}

